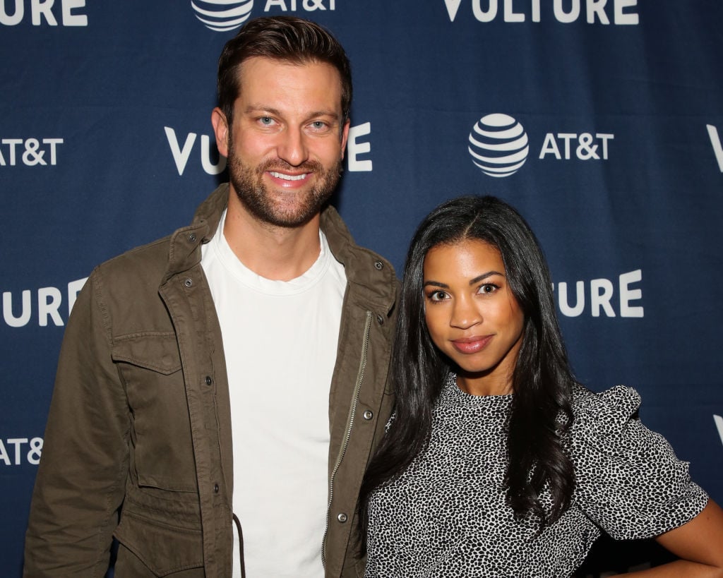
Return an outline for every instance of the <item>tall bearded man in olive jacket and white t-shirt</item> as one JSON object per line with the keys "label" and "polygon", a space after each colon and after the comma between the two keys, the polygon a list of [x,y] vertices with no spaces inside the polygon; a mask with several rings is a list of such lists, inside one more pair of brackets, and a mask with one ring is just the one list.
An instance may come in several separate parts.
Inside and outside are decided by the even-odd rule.
{"label": "tall bearded man in olive jacket and white t-shirt", "polygon": [[361,569],[397,283],[326,206],[348,60],[311,22],[252,20],[223,49],[218,95],[230,183],[191,225],[96,268],[75,303],[27,577],[103,577],[111,537],[118,578]]}

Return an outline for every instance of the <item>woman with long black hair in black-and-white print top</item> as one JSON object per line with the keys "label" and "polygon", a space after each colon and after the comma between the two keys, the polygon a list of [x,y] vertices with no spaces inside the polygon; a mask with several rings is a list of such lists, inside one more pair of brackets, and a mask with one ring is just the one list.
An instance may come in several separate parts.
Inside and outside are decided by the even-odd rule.
{"label": "woman with long black hair in black-and-white print top", "polygon": [[643,575],[723,575],[723,512],[641,425],[638,394],[573,378],[547,264],[512,207],[437,207],[400,308],[395,414],[360,497],[365,576],[570,576],[601,530],[683,558]]}

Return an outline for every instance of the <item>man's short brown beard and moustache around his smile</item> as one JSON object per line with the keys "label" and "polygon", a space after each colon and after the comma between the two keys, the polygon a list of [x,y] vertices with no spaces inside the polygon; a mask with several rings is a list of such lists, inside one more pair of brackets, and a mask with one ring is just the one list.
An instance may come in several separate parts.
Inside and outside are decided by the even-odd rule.
{"label": "man's short brown beard and moustache around his smile", "polygon": [[[287,198],[292,202],[282,206],[275,202],[262,180],[267,171],[311,173],[307,178],[313,176],[316,182],[306,191],[288,191]],[[228,147],[228,178],[239,200],[257,220],[276,227],[292,228],[308,223],[333,194],[341,171],[341,159],[328,169],[317,160],[292,166],[278,158],[265,160],[254,168],[244,165],[241,158],[234,154],[232,142]],[[281,193],[282,196],[284,194]]]}

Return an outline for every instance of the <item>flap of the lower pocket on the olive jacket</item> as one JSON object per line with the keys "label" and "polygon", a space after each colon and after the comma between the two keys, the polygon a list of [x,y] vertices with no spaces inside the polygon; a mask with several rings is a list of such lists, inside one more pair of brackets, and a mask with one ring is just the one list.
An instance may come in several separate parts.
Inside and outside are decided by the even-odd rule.
{"label": "flap of the lower pocket on the olive jacket", "polygon": [[201,530],[124,512],[114,536],[157,576],[203,566]]}

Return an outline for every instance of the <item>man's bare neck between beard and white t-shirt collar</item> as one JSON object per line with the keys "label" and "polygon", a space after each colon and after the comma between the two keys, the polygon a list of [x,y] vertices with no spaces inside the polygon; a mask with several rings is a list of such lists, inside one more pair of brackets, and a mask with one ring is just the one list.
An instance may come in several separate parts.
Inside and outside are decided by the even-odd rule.
{"label": "man's bare neck between beard and white t-shirt collar", "polygon": [[319,215],[299,227],[278,227],[257,220],[238,199],[228,201],[223,235],[245,267],[266,279],[288,281],[316,262]]}

